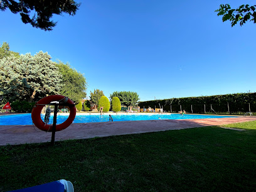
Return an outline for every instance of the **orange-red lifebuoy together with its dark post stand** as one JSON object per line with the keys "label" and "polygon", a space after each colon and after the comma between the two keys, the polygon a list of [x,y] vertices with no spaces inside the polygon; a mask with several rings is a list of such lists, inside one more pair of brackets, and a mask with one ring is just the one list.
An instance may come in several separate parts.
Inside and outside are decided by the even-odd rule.
{"label": "orange-red lifebuoy together with its dark post stand", "polygon": [[[45,122],[43,122],[43,120],[41,119],[41,110],[43,109],[43,107],[45,107],[45,105],[55,106],[52,125],[45,124]],[[70,108],[70,115],[68,119],[65,120],[65,122],[56,125],[58,106],[68,106]],[[41,129],[42,131],[51,132],[51,144],[54,144],[55,132],[66,129],[70,124],[72,124],[73,120],[75,119],[75,114],[76,108],[72,100],[68,99],[68,97],[65,97],[63,95],[50,95],[39,100],[35,104],[31,112],[31,117],[33,120],[33,124],[35,124],[36,127],[38,127],[38,129]]]}

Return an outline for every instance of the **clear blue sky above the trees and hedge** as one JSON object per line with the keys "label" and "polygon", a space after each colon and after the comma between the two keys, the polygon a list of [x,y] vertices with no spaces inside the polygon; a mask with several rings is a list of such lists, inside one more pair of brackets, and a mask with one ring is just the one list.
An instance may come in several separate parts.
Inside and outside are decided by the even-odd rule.
{"label": "clear blue sky above the trees and hedge", "polygon": [[223,23],[220,4],[254,1],[87,0],[53,31],[0,11],[0,43],[70,63],[93,89],[137,92],[141,101],[256,91],[256,24]]}

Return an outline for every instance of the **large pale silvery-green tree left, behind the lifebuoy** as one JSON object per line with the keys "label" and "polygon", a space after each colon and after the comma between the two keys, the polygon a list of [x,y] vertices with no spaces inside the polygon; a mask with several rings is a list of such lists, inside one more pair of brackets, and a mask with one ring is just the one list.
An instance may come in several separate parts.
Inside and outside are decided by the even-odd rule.
{"label": "large pale silvery-green tree left, behind the lifebuoy", "polygon": [[38,101],[60,92],[61,74],[48,53],[4,57],[0,60],[0,97],[8,101]]}

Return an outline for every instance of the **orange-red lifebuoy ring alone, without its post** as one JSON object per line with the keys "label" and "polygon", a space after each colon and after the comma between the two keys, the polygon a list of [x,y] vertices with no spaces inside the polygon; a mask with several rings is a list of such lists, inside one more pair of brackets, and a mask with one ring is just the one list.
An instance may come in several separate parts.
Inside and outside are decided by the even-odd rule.
{"label": "orange-red lifebuoy ring alone, without its post", "polygon": [[[50,104],[50,102],[53,101],[60,101],[64,99],[65,96],[63,95],[50,95],[48,97],[45,97],[43,99],[40,99],[36,105],[32,109],[31,117],[33,120],[33,123],[38,127],[38,129],[41,129],[42,131],[52,131],[53,125],[48,125],[43,122],[41,119],[41,110],[45,105]],[[45,104],[45,105],[42,105]],[[65,122],[62,124],[56,125],[56,131],[61,131],[63,129],[66,129],[70,124],[72,124],[73,120],[75,119],[75,114],[76,114],[76,108],[72,100],[68,99],[67,104],[71,104],[73,106],[69,107],[70,108],[70,115]]]}

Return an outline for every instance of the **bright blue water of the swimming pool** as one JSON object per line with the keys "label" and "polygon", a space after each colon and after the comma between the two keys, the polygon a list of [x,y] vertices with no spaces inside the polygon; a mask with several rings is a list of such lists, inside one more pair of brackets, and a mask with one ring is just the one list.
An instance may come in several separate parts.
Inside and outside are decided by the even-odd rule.
{"label": "bright blue water of the swimming pool", "polygon": [[[57,124],[61,124],[68,118],[69,114],[58,114]],[[190,115],[190,114],[111,114],[113,121],[125,120],[157,120],[157,119],[210,119],[210,118],[224,118],[230,116],[219,115]],[[41,114],[44,119],[45,115]],[[107,122],[109,121],[109,114],[77,114],[73,123],[87,123],[87,122]],[[53,122],[53,114],[50,117],[50,124]],[[1,115],[0,125],[32,125],[31,114],[17,114],[17,115]]]}

